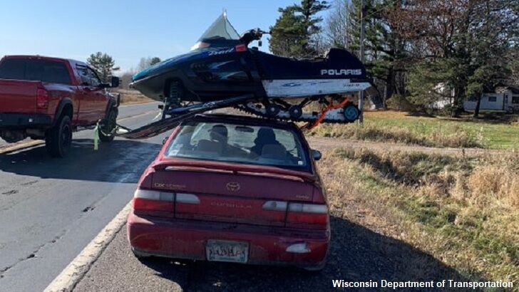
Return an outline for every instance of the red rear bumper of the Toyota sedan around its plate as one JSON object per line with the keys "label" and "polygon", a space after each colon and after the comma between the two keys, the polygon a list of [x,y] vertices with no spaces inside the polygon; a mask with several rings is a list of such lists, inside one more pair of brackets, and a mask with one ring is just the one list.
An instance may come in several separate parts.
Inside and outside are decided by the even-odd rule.
{"label": "red rear bumper of the Toyota sedan around its plate", "polygon": [[[128,216],[128,241],[141,254],[205,261],[205,244],[210,239],[249,244],[247,264],[284,264],[318,267],[326,261],[328,230],[284,229],[269,226],[187,221]],[[306,243],[309,251],[294,253],[289,246]]]}

